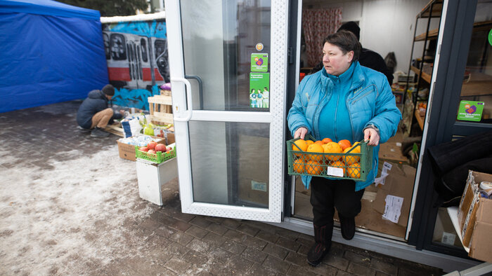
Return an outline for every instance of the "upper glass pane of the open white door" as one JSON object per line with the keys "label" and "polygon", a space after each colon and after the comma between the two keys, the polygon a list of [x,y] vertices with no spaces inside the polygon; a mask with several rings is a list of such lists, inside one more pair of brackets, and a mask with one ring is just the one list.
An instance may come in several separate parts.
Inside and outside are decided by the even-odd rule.
{"label": "upper glass pane of the open white door", "polygon": [[185,72],[203,81],[201,95],[192,81],[193,109],[268,111],[268,60],[260,91],[251,92],[250,73],[252,54],[270,53],[271,1],[186,1],[181,20]]}

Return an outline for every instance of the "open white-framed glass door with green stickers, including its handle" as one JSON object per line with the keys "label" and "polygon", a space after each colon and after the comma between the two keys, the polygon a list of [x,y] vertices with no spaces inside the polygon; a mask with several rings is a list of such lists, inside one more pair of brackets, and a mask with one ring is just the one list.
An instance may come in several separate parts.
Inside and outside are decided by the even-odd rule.
{"label": "open white-framed glass door with green stickers, including its handle", "polygon": [[286,4],[165,7],[182,211],[280,222]]}

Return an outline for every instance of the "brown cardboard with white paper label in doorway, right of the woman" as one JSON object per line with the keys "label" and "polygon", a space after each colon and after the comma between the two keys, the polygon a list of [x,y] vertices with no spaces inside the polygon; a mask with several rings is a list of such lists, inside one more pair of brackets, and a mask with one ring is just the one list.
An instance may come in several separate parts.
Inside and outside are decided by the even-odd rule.
{"label": "brown cardboard with white paper label in doorway, right of the woman", "polygon": [[391,165],[391,170],[389,170],[389,175],[386,177],[384,185],[380,186],[377,190],[376,199],[373,202],[373,209],[384,214],[387,195],[403,198],[398,225],[406,227],[408,214],[410,213],[410,204],[412,202],[415,167],[402,165],[400,168],[396,163],[391,163]]}

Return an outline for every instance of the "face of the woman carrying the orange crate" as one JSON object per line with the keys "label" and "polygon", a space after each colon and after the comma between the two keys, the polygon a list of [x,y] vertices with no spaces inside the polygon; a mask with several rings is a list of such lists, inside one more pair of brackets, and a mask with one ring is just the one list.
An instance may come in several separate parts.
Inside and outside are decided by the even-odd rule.
{"label": "face of the woman carrying the orange crate", "polygon": [[347,52],[345,55],[338,46],[328,42],[323,46],[323,66],[326,73],[333,76],[340,76],[349,69],[354,58],[354,51]]}

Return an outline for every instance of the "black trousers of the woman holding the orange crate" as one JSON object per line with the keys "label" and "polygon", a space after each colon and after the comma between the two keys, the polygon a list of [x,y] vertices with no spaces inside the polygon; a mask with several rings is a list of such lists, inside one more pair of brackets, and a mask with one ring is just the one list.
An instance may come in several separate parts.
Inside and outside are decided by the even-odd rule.
{"label": "black trousers of the woman holding the orange crate", "polygon": [[311,205],[313,224],[316,227],[333,228],[335,208],[338,215],[353,218],[361,212],[361,198],[364,189],[355,191],[356,182],[351,179],[330,180],[313,177],[311,180]]}

